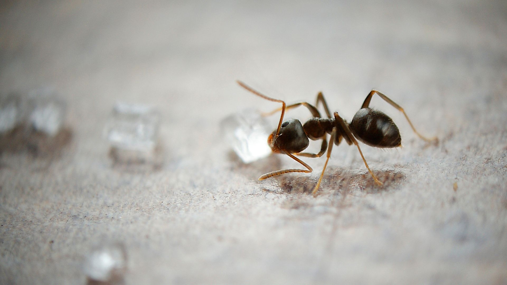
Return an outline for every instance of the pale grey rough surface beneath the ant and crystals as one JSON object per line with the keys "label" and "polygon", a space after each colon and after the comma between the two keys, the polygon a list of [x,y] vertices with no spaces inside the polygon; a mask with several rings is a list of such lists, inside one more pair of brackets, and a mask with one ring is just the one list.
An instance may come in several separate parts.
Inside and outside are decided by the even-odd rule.
{"label": "pale grey rough surface beneath the ant and crystals", "polygon": [[[507,282],[507,20],[502,1],[7,2],[0,93],[51,85],[74,137],[60,157],[2,153],[0,283],[85,283],[97,242],[125,245],[125,283]],[[244,165],[220,121],[314,102],[350,120],[372,106],[403,148],[335,147],[315,171],[283,156]],[[103,126],[117,101],[156,106],[167,158],[111,166]],[[300,108],[301,109],[301,108]],[[305,120],[305,110],[288,117]],[[273,128],[275,125],[273,125]],[[318,149],[318,143],[310,145]],[[456,190],[454,185],[457,185]]]}

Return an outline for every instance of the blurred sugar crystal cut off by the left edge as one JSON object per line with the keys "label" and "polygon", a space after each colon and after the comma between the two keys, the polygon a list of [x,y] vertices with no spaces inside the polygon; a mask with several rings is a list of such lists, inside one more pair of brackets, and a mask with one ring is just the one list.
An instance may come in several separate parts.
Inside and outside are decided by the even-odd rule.
{"label": "blurred sugar crystal cut off by the left edge", "polygon": [[21,98],[16,94],[0,98],[0,133],[11,131],[21,124],[21,108]]}

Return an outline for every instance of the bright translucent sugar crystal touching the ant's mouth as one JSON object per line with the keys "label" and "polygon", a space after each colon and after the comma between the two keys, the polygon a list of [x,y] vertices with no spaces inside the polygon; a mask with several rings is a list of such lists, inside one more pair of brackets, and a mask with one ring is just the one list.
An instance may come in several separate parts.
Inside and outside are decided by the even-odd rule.
{"label": "bright translucent sugar crystal touching the ant's mouth", "polygon": [[272,130],[258,111],[243,110],[223,119],[220,124],[225,139],[244,163],[271,154],[267,141]]}

